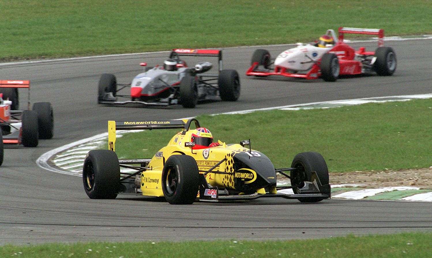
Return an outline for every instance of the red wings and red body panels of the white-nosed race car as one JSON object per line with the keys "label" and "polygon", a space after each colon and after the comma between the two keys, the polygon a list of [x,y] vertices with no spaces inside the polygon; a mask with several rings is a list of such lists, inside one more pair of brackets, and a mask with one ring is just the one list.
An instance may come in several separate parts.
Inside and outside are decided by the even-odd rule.
{"label": "red wings and red body panels of the white-nosed race car", "polygon": [[[362,73],[362,63],[354,60],[356,54],[360,55],[375,55],[375,51],[365,51],[364,47],[355,50],[349,45],[343,42],[343,35],[349,34],[366,34],[366,35],[378,35],[378,47],[384,45],[384,30],[383,29],[357,29],[357,28],[339,28],[339,38],[336,45],[328,52],[334,53],[339,59],[340,75],[355,75]],[[308,73],[289,73],[285,67],[275,66],[273,71],[260,71],[255,70],[258,67],[258,62],[249,67],[246,71],[246,75],[251,76],[269,76],[269,75],[281,75],[286,77],[305,78],[307,80],[318,79],[321,76],[320,62],[318,60],[308,71]]]}

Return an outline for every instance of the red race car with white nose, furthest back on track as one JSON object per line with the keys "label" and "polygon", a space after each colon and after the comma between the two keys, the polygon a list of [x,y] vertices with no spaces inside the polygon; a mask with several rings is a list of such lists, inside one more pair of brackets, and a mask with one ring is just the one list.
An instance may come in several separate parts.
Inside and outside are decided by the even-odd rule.
{"label": "red race car with white nose, furthest back on track", "polygon": [[[378,35],[378,48],[375,52],[366,51],[364,47],[356,51],[344,43],[343,35],[347,33]],[[334,30],[327,30],[326,35],[336,41]],[[269,51],[257,49],[252,55],[251,67],[246,75],[281,75],[308,80],[321,77],[325,81],[334,82],[339,75],[377,73],[380,76],[390,76],[396,70],[396,65],[393,48],[384,47],[384,30],[340,27],[339,38],[334,45],[318,47],[298,43],[297,47],[283,51],[274,60]]]}

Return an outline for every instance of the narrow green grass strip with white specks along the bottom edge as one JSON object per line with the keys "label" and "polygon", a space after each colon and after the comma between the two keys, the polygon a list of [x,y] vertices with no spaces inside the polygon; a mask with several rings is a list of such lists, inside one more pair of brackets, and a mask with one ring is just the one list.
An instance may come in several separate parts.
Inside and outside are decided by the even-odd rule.
{"label": "narrow green grass strip with white specks along the bottom edge", "polygon": [[290,241],[90,242],[4,245],[0,257],[430,257],[432,233]]}

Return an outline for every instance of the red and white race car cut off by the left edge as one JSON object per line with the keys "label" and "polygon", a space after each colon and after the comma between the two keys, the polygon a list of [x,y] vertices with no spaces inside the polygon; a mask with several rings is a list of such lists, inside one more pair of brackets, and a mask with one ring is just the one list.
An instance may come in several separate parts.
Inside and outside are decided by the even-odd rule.
{"label": "red and white race car cut off by the left edge", "polygon": [[[18,89],[27,88],[28,110],[19,108]],[[51,139],[54,131],[54,115],[50,102],[37,102],[30,110],[30,81],[0,81],[0,128],[2,144],[38,146],[38,139]],[[3,145],[2,145],[3,147]],[[2,156],[3,157],[3,156]]]}

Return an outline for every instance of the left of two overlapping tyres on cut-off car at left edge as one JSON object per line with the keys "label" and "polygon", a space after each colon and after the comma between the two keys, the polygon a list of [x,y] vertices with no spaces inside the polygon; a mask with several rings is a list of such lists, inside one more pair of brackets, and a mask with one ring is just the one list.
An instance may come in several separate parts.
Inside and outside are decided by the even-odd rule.
{"label": "left of two overlapping tyres on cut-off car at left edge", "polygon": [[36,147],[39,143],[38,114],[35,111],[22,111],[22,145]]}

